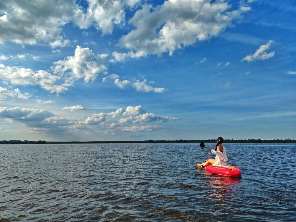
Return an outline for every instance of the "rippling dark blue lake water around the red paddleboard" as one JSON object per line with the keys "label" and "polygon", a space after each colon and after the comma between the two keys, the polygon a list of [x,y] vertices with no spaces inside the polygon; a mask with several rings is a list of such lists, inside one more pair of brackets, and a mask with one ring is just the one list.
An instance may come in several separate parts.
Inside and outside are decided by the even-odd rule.
{"label": "rippling dark blue lake water around the red paddleboard", "polygon": [[[214,148],[215,144],[205,144]],[[296,144],[0,145],[0,221],[296,221]]]}

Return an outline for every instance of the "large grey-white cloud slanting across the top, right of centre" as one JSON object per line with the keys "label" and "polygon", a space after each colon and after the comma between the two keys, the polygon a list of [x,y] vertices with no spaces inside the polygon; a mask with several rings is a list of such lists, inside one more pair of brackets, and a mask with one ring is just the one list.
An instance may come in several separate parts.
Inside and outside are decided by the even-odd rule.
{"label": "large grey-white cloud slanting across the top, right of centre", "polygon": [[234,20],[250,10],[246,6],[230,11],[227,1],[211,0],[168,0],[152,8],[144,5],[129,23],[134,30],[122,36],[118,46],[130,51],[126,54],[113,53],[114,61],[127,57],[141,57],[148,54],[160,56],[176,49],[218,36]]}

